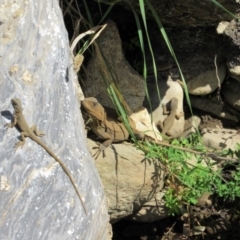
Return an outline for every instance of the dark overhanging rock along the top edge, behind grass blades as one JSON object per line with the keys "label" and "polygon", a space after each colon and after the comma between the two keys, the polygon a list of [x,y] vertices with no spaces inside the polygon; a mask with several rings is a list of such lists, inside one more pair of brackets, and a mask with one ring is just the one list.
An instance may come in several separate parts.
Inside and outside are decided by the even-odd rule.
{"label": "dark overhanging rock along the top edge, behind grass blades", "polygon": [[[116,2],[116,0],[102,0],[102,2]],[[217,7],[212,1],[192,1],[192,0],[150,0],[149,1],[161,21],[165,25],[175,27],[204,27],[216,26],[222,19],[230,20],[232,17]],[[237,14],[239,9],[238,0],[221,0],[217,1],[222,4],[231,13]],[[121,2],[120,2],[121,3]],[[139,11],[139,2],[137,0],[129,0],[129,4],[122,3],[127,8],[133,7],[135,11]],[[147,5],[147,4],[146,4]],[[131,10],[131,9],[130,9]],[[151,11],[147,11],[147,17],[152,18]]]}

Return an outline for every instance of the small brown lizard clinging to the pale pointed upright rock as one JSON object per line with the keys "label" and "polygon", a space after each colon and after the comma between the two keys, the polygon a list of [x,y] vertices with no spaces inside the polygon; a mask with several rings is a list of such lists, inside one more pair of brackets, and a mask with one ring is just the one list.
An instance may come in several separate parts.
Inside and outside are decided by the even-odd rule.
{"label": "small brown lizard clinging to the pale pointed upright rock", "polygon": [[178,99],[175,97],[173,97],[170,101],[170,111],[167,111],[165,104],[162,104],[162,108],[163,114],[168,116],[164,119],[163,123],[159,120],[156,125],[161,128],[162,135],[170,135],[169,130],[173,126],[175,118],[179,119],[183,116],[183,113],[181,112],[180,114],[177,114]]}

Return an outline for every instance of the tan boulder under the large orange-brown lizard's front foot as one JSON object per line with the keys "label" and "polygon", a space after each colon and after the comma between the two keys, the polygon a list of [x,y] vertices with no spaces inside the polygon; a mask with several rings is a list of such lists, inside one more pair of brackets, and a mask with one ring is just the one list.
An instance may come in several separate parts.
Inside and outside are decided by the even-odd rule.
{"label": "tan boulder under the large orange-brown lizard's front foot", "polygon": [[[95,142],[88,139],[92,155]],[[165,173],[160,163],[145,161],[144,153],[132,144],[112,144],[95,160],[108,199],[111,222],[139,210],[163,188]],[[146,212],[148,214],[148,212]],[[147,218],[147,216],[146,216]]]}

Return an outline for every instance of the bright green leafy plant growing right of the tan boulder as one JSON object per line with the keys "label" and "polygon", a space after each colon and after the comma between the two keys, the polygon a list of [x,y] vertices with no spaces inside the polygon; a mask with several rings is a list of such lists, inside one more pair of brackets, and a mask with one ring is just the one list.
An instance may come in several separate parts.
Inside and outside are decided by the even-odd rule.
{"label": "bright green leafy plant growing right of the tan boulder", "polygon": [[[188,147],[189,149],[197,149],[201,153],[201,149],[205,150],[200,142],[191,139],[198,139],[198,135],[193,135],[190,139],[183,141],[173,140],[171,147],[159,146],[155,143],[143,143],[140,146],[146,153],[149,162],[160,161],[166,169],[167,178],[165,181],[164,199],[169,213],[174,215],[180,212],[183,205],[196,204],[199,197],[208,192],[222,197],[225,200],[234,200],[240,197],[240,171],[236,168],[231,178],[225,180],[222,177],[224,167],[214,170],[216,163],[206,159],[204,154],[193,154],[176,147]],[[202,147],[201,147],[202,146]],[[218,154],[223,156],[237,156],[239,154],[240,144],[236,145],[236,150],[222,151]],[[204,153],[204,151],[202,151]],[[188,159],[196,158],[196,161]]]}

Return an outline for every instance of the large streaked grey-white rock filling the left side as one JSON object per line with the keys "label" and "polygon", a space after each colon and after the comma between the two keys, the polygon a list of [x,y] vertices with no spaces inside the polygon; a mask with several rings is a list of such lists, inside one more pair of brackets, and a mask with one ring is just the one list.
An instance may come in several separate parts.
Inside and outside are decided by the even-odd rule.
{"label": "large streaked grey-white rock filling the left side", "polygon": [[[76,97],[68,36],[56,0],[1,1],[0,5],[0,239],[108,239],[109,216],[98,172],[88,152]],[[11,98],[20,98],[73,175],[76,192],[60,165],[27,138],[6,129]]]}

